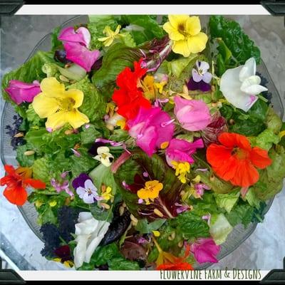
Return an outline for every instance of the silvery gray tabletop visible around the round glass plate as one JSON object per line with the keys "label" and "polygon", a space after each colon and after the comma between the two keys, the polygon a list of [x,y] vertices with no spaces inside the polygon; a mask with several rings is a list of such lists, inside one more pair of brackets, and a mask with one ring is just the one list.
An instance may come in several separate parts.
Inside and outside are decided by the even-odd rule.
{"label": "silvery gray tabletop visible around the round glass plate", "polygon": [[[36,43],[53,28],[73,16],[12,16],[1,18],[0,75],[23,63]],[[283,104],[285,93],[285,28],[284,19],[274,16],[229,16],[241,24],[261,50],[271,78]],[[0,100],[0,114],[4,102]],[[0,177],[4,175],[0,162]],[[0,188],[3,192],[3,187]],[[281,268],[285,257],[285,192],[279,193],[266,214],[264,222],[238,249],[212,269]],[[33,234],[19,209],[9,204],[0,194],[0,247],[9,258],[26,269],[66,269],[56,262],[41,257],[42,242]],[[2,252],[2,254],[3,254]],[[0,252],[1,255],[1,252]]]}

